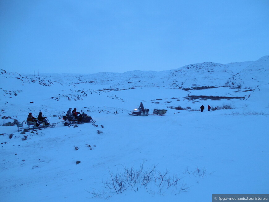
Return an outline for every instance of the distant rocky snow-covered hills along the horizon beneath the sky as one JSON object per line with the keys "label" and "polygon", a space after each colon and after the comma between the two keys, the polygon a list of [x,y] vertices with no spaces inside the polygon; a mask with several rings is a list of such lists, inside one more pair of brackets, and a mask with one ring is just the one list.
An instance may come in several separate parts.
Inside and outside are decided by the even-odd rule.
{"label": "distant rocky snow-covered hills along the horizon beneath the sky", "polygon": [[101,72],[96,74],[42,74],[23,75],[1,70],[1,76],[13,77],[23,82],[38,82],[51,86],[58,84],[90,84],[93,89],[130,89],[136,87],[194,88],[202,86],[255,88],[268,84],[269,56],[257,61],[219,64],[203,62],[190,64],[176,70],[127,71],[124,73]]}

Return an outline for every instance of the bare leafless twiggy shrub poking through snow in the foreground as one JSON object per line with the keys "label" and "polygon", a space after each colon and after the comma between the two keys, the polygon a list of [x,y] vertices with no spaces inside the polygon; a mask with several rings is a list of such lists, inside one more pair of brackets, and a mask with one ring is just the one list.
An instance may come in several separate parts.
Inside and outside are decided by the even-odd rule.
{"label": "bare leafless twiggy shrub poking through snow in the foreground", "polygon": [[[194,177],[204,178],[206,169],[202,168],[189,171],[186,169],[183,174],[192,174]],[[164,172],[156,170],[156,165],[152,165],[150,169],[144,169],[143,164],[140,169],[136,170],[133,167],[127,168],[123,166],[122,170],[113,173],[109,169],[109,179],[104,182],[105,190],[88,191],[92,198],[108,199],[113,193],[120,194],[126,190],[138,191],[144,188],[150,194],[165,195],[169,190],[174,194],[186,192],[190,186],[184,183],[185,176],[178,176],[177,174],[170,175],[168,170]]]}

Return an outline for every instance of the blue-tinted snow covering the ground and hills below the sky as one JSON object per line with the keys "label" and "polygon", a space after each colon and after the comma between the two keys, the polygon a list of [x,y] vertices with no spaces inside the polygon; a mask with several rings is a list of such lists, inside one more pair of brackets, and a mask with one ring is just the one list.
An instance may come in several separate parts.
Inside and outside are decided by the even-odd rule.
{"label": "blue-tinted snow covering the ground and hills below the sky", "polygon": [[[0,76],[1,201],[188,202],[268,194],[269,56],[161,72],[0,70]],[[128,115],[140,102],[150,115]],[[208,111],[207,105],[232,109]],[[169,108],[178,106],[186,110]],[[64,126],[70,107],[95,125]],[[153,109],[167,115],[152,115]],[[39,111],[58,125],[25,134],[3,126],[17,119],[28,128],[28,113]],[[127,178],[126,170],[137,178]]]}

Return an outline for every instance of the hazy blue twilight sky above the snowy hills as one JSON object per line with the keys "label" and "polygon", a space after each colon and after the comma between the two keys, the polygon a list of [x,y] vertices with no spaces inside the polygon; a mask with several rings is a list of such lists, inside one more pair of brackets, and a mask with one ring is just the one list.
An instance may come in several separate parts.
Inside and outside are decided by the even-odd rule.
{"label": "hazy blue twilight sky above the snowy hills", "polygon": [[0,68],[162,71],[269,55],[267,0],[1,0]]}

